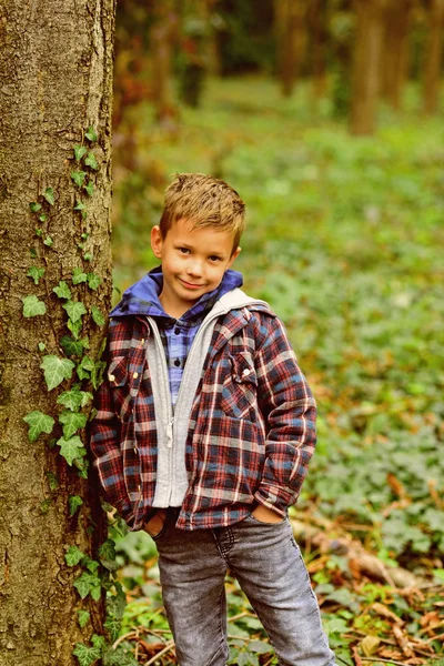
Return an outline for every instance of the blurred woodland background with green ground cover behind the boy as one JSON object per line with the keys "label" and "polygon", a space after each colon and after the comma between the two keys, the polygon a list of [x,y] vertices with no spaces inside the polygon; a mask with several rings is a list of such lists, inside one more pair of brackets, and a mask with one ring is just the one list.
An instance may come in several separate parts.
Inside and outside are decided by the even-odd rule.
{"label": "blurred woodland background with green ground cover behind the boy", "polygon": [[[339,664],[444,664],[443,27],[442,0],[118,3],[115,300],[174,172],[235,186],[236,268],[319,402],[292,519]],[[119,640],[174,663],[154,547],[117,529]],[[275,664],[229,601],[230,663]]]}

